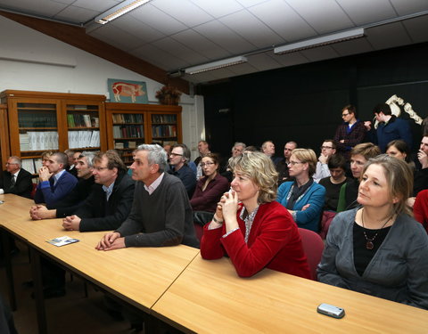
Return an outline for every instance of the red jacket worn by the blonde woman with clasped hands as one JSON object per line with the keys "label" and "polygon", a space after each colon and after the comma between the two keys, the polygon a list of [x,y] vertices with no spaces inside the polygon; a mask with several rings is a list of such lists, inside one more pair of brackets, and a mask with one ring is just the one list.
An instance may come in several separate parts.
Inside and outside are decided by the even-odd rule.
{"label": "red jacket worn by the blonde woman with clasped hands", "polygon": [[263,268],[303,278],[310,278],[309,266],[303,251],[300,234],[292,216],[278,202],[260,205],[251,226],[248,244],[245,243],[245,223],[236,213],[240,230],[226,238],[226,226],[209,230],[206,224],[201,240],[202,258],[212,260],[228,255],[236,273],[249,277]]}

